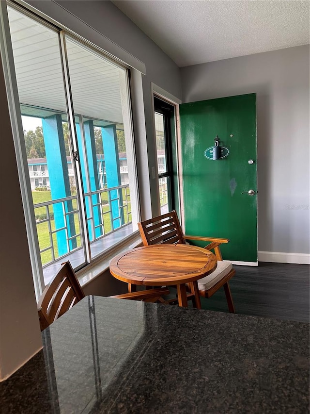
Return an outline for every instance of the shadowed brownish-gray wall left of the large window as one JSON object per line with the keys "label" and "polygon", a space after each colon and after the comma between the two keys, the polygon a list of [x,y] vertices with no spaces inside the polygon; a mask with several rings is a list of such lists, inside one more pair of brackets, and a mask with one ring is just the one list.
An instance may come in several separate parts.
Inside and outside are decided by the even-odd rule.
{"label": "shadowed brownish-gray wall left of the large window", "polygon": [[42,348],[1,60],[0,103],[1,381]]}

